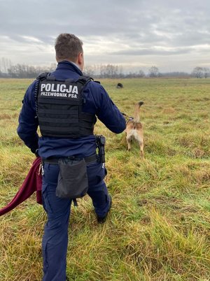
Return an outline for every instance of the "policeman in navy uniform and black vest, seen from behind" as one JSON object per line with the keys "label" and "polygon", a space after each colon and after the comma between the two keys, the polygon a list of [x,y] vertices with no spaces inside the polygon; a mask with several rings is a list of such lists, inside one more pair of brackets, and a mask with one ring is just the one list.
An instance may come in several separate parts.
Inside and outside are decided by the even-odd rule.
{"label": "policeman in navy uniform and black vest, seen from behind", "polygon": [[[59,165],[50,163],[48,159],[86,159],[87,194],[92,199],[97,221],[105,222],[111,208],[111,196],[104,183],[106,168],[94,158],[95,116],[116,134],[125,130],[125,118],[102,85],[94,81],[76,82],[83,75],[82,41],[73,34],[59,34],[55,41],[55,53],[57,69],[48,78],[43,78],[43,82],[39,81],[38,96],[35,94],[37,80],[31,83],[25,93],[18,126],[18,135],[22,141],[31,152],[43,159],[44,164],[42,196],[48,221],[42,243],[43,281],[66,280],[71,210],[71,200],[60,198],[55,193]],[[76,103],[79,95],[82,95],[82,109],[81,105],[78,106],[79,102]],[[38,125],[41,137],[37,134]]]}

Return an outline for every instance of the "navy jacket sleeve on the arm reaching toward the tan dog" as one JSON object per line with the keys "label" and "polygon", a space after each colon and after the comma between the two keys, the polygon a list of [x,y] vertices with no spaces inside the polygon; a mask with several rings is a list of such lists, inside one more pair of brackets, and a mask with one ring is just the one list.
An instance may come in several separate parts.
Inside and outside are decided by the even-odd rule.
{"label": "navy jacket sleeve on the arm reaching toward the tan dog", "polygon": [[113,103],[102,85],[99,87],[99,101],[96,115],[113,133],[120,134],[125,130],[125,117],[120,113],[120,110]]}

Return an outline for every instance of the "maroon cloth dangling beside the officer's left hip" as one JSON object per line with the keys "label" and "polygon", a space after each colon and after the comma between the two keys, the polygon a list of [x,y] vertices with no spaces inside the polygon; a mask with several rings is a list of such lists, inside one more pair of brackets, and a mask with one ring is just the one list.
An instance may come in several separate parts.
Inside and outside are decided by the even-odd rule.
{"label": "maroon cloth dangling beside the officer's left hip", "polygon": [[22,183],[22,186],[18,190],[13,200],[10,201],[10,203],[8,203],[7,206],[0,209],[0,216],[6,214],[6,212],[9,212],[10,210],[13,210],[16,206],[18,206],[20,203],[22,203],[27,198],[29,198],[31,194],[33,194],[34,192],[36,192],[36,202],[42,204],[42,200],[41,200],[42,178],[41,178],[40,165],[41,165],[41,157],[37,157],[34,160],[27,177],[25,178],[24,182]]}

